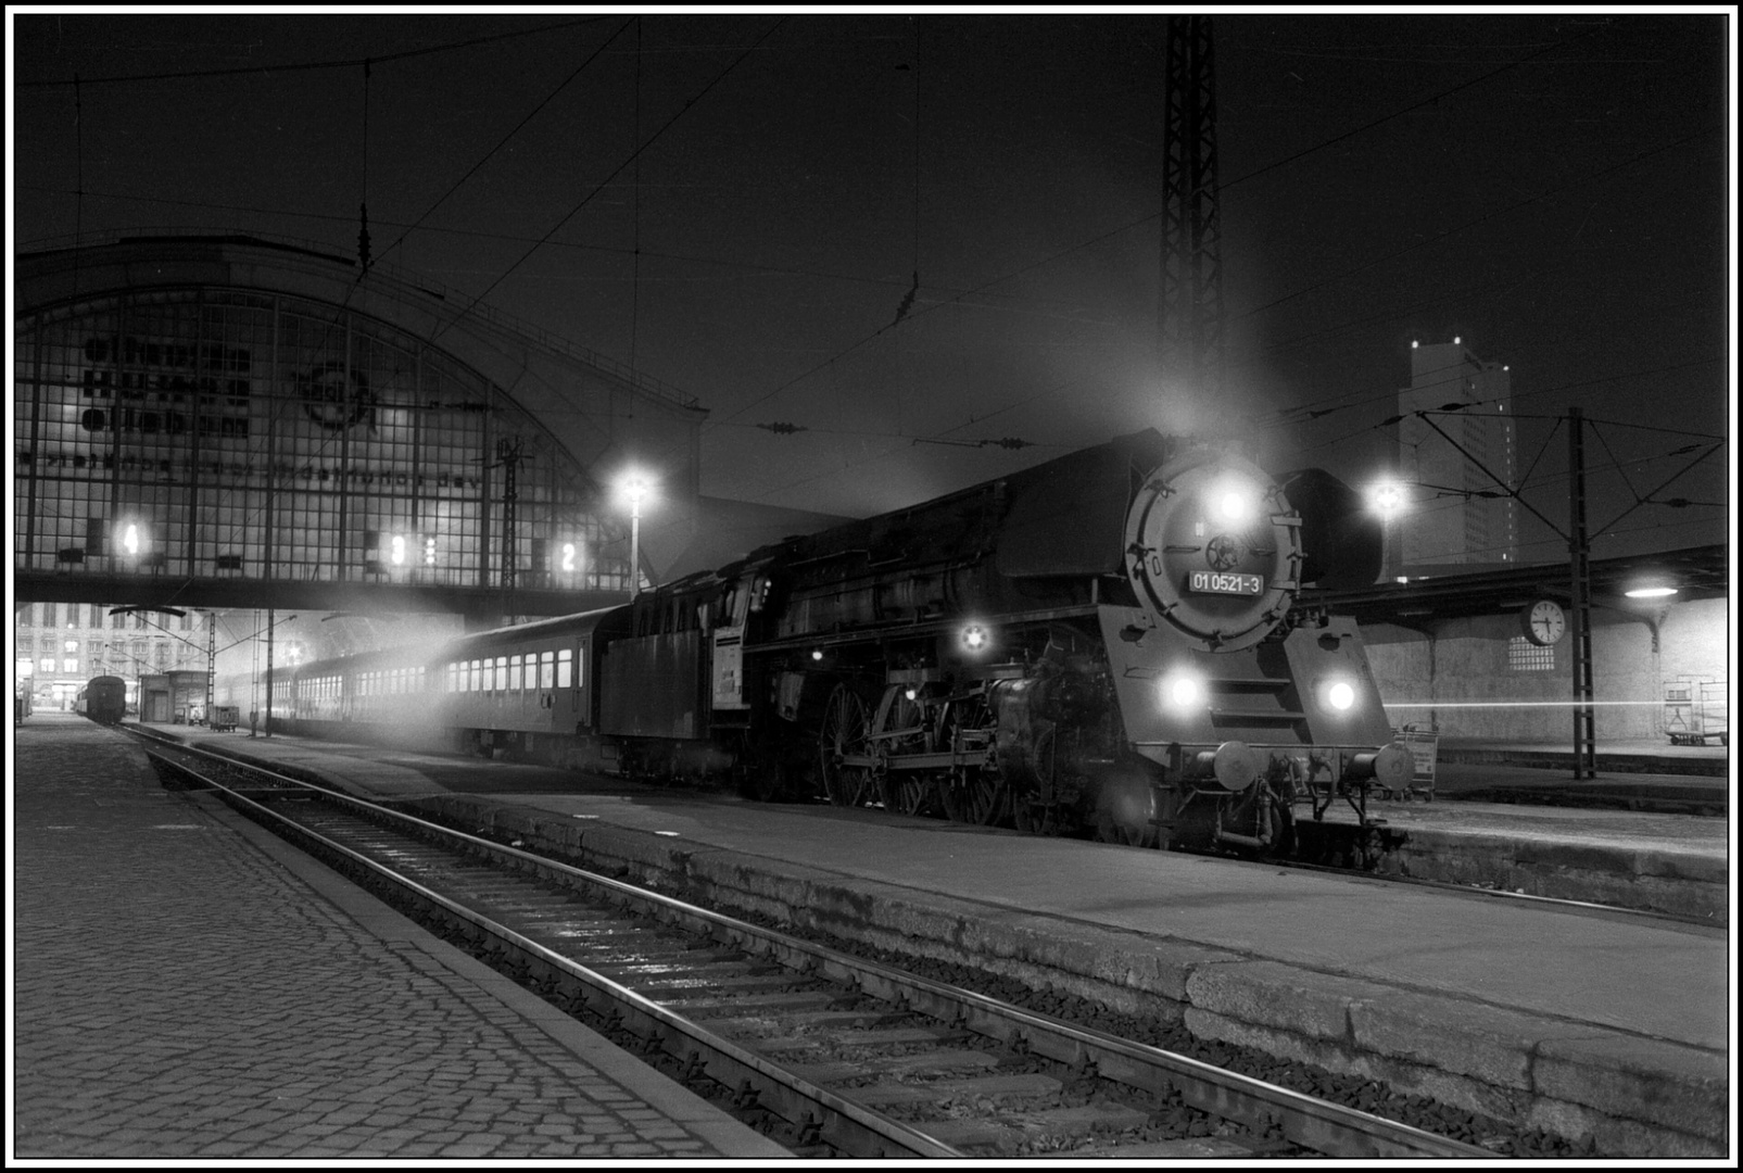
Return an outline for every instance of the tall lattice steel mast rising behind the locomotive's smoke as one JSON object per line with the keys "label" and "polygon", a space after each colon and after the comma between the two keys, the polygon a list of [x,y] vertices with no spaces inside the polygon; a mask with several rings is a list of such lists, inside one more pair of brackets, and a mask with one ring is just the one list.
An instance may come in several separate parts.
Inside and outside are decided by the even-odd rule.
{"label": "tall lattice steel mast rising behind the locomotive's smoke", "polygon": [[1217,87],[1208,16],[1170,16],[1163,105],[1163,376],[1215,397],[1224,376]]}

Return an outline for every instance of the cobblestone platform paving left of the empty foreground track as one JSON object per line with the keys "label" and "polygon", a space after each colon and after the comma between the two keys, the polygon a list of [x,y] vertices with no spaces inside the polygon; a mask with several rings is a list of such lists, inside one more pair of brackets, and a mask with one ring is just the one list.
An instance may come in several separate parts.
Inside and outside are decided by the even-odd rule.
{"label": "cobblestone platform paving left of the empty foreground track", "polygon": [[14,749],[12,1156],[788,1156],[122,734]]}

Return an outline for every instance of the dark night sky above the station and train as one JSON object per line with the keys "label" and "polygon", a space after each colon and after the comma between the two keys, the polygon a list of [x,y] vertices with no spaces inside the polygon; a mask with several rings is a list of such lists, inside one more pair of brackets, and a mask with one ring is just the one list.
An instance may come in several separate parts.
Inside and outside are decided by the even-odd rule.
{"label": "dark night sky above the station and train", "polygon": [[[14,10],[12,241],[354,256],[366,200],[378,261],[697,396],[704,493],[851,516],[1140,427],[1360,485],[1410,342],[1461,336],[1511,368],[1532,504],[1567,516],[1551,417],[1581,404],[1593,526],[1692,502],[1593,553],[1701,546],[1733,448],[1661,485],[1734,415],[1719,12],[1217,16],[1211,401],[1157,375],[1164,21],[1136,12]],[[1525,561],[1565,556],[1523,519]]]}

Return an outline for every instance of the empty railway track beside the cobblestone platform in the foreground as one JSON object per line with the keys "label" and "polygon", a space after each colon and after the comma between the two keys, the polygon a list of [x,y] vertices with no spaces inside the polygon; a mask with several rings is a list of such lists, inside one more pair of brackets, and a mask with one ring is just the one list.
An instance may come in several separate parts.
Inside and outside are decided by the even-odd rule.
{"label": "empty railway track beside the cobblestone platform in the foreground", "polygon": [[1387,1121],[190,748],[223,800],[812,1157],[1475,1159]]}

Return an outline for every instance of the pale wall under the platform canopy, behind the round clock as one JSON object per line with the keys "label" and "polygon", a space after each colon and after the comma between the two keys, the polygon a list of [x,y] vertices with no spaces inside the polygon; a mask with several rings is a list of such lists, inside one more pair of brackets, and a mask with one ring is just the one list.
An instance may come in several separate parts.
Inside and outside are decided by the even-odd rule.
{"label": "pale wall under the platform canopy, behind the round clock", "polygon": [[[1727,680],[1729,600],[1642,612],[1659,620],[1656,650],[1647,622],[1604,608],[1593,615],[1598,739],[1663,737],[1666,683]],[[1551,669],[1520,671],[1508,652],[1518,633],[1513,615],[1443,620],[1433,638],[1391,624],[1363,627],[1393,725],[1433,722],[1445,737],[1570,741],[1572,641],[1555,645]]]}

